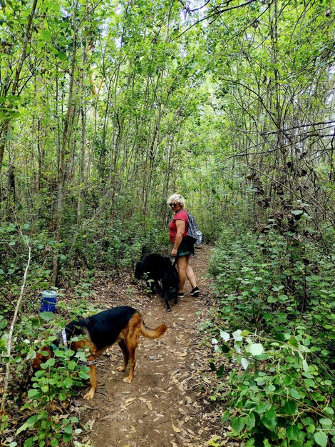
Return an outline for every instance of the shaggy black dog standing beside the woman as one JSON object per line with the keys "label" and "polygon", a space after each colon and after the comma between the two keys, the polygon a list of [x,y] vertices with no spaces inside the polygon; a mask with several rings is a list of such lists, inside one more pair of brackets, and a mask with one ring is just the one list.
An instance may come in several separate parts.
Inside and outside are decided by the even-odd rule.
{"label": "shaggy black dog standing beside the woman", "polygon": [[135,278],[143,278],[145,273],[148,274],[147,279],[151,280],[151,291],[154,291],[154,286],[163,291],[166,308],[170,312],[169,297],[172,293],[175,296],[174,303],[177,303],[177,291],[179,288],[177,268],[172,266],[168,256],[152,253],[136,264]]}

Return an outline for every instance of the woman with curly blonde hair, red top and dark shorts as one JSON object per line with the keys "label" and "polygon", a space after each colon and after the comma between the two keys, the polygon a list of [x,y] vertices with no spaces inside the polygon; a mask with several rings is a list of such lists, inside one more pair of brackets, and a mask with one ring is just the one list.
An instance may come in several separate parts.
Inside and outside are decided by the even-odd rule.
{"label": "woman with curly blonde hair, red top and dark shorts", "polygon": [[175,213],[170,222],[170,242],[173,244],[171,256],[177,256],[177,269],[179,277],[178,298],[184,298],[184,284],[186,278],[190,281],[192,290],[190,295],[198,296],[200,293],[195,281],[195,273],[189,265],[190,255],[194,254],[192,239],[187,236],[188,216],[184,210],[185,199],[180,194],[173,194],[168,198],[168,204]]}

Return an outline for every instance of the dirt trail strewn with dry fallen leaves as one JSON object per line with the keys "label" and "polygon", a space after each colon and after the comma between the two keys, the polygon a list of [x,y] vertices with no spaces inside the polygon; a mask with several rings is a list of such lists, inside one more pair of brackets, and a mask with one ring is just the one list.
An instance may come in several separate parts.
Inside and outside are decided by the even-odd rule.
{"label": "dirt trail strewn with dry fallen leaves", "polygon": [[122,278],[128,284],[123,293],[116,283],[96,288],[101,308],[127,304],[143,314],[147,326],[165,322],[169,329],[158,340],[140,338],[133,383],[124,383],[125,373],[116,371],[122,358],[117,345],[100,358],[96,396],[75,401],[76,411],[91,427],[89,438],[95,447],[200,447],[217,433],[218,415],[205,389],[199,388],[201,376],[209,370],[210,348],[198,331],[212,301],[209,258],[207,246],[191,258],[201,296],[190,296],[187,282],[185,298],[171,304],[170,313],[163,298],[147,296],[130,278]]}

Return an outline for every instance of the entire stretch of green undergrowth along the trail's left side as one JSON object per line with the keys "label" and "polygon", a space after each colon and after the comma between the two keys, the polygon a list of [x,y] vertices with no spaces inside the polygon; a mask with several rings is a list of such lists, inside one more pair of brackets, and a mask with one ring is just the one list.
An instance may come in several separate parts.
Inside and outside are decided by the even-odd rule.
{"label": "entire stretch of green undergrowth along the trail's left side", "polygon": [[[41,346],[52,346],[64,325],[81,315],[101,310],[89,304],[91,284],[97,274],[115,277],[124,268],[133,269],[143,255],[168,248],[168,234],[155,219],[135,216],[131,219],[104,221],[95,225],[83,222],[81,229],[71,222],[56,247],[46,223],[0,224],[0,389],[9,366],[9,390],[5,414],[0,414],[1,445],[15,446],[86,446],[86,427],[81,426],[71,408],[78,388],[86,386],[86,353],[56,349],[55,358],[43,364],[31,376],[31,361]],[[24,299],[14,325],[11,356],[7,356],[9,328],[20,296],[24,271],[27,270]],[[51,284],[53,253],[58,249],[60,265],[57,287]],[[57,313],[39,313],[41,291],[55,288]],[[63,300],[62,290],[71,290],[73,306]],[[52,319],[52,321],[49,321]]]}

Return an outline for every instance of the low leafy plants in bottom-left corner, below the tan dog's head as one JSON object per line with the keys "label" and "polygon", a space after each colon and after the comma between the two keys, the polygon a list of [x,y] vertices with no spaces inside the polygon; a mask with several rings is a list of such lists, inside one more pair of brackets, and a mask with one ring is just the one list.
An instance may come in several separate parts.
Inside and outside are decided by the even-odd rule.
{"label": "low leafy plants in bottom-left corner, below the tan dog's head", "polygon": [[[61,302],[58,303],[61,309]],[[78,316],[81,303],[78,303]],[[87,311],[87,305],[86,309]],[[46,324],[53,318],[52,328]],[[10,363],[11,382],[6,399],[6,410],[11,418],[4,415],[0,421],[0,435],[11,441],[11,446],[59,446],[63,443],[81,445],[76,438],[83,429],[78,418],[64,416],[71,396],[76,396],[78,387],[89,378],[88,366],[85,365],[87,354],[83,351],[74,353],[69,349],[56,348],[53,345],[55,333],[64,326],[63,318],[53,313],[43,312],[38,317],[26,315],[18,321],[14,330],[11,358],[6,356],[6,340],[8,337],[8,321],[0,316],[0,356],[6,364]],[[41,341],[41,336],[43,341]],[[37,340],[40,340],[36,343]],[[54,346],[54,357],[41,365],[28,381],[31,361],[36,350],[41,346]],[[15,413],[20,414],[24,422],[15,426]]]}

